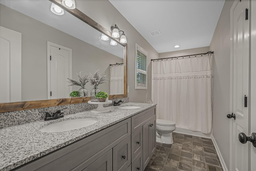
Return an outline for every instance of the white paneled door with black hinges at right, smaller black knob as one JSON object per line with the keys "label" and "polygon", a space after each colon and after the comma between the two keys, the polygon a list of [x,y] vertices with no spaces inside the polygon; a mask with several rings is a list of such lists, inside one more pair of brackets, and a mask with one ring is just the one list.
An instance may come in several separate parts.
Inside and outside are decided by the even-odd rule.
{"label": "white paneled door with black hinges at right, smaller black knob", "polygon": [[[245,98],[249,89],[249,0],[235,1],[231,8],[233,37],[233,119],[232,171],[248,171],[248,143],[242,144],[238,134],[248,134],[248,105]],[[248,102],[248,100],[246,101]]]}

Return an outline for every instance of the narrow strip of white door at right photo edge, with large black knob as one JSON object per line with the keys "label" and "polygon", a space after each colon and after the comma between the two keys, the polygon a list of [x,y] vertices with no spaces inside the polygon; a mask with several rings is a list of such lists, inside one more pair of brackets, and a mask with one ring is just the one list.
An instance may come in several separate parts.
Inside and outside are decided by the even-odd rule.
{"label": "narrow strip of white door at right photo edge, with large black knob", "polygon": [[[251,114],[251,129],[249,131],[249,134],[247,136],[250,136],[251,133],[256,133],[256,1],[251,1],[251,86],[250,86],[250,114]],[[250,166],[251,171],[256,170],[256,147],[252,145],[252,143],[249,143],[250,146],[250,152],[251,152],[251,159],[250,159]]]}

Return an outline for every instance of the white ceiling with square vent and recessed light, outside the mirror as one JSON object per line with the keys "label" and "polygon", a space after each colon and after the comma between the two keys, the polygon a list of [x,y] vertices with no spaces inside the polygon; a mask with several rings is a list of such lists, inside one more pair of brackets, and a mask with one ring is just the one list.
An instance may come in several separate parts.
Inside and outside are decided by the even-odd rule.
{"label": "white ceiling with square vent and recessed light, outside the mirror", "polygon": [[[158,53],[210,46],[225,0],[109,0]],[[124,26],[120,26],[125,31]],[[161,35],[149,32],[159,30]],[[126,35],[129,38],[129,35]],[[129,41],[127,39],[127,41]],[[174,48],[179,45],[179,48]]]}

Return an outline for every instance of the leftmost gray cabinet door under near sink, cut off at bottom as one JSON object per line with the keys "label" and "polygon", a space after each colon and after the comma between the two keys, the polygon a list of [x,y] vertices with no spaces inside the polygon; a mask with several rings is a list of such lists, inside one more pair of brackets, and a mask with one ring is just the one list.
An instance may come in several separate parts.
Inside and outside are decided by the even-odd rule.
{"label": "leftmost gray cabinet door under near sink, cut off at bottom", "polygon": [[112,171],[112,149],[86,167],[83,171]]}

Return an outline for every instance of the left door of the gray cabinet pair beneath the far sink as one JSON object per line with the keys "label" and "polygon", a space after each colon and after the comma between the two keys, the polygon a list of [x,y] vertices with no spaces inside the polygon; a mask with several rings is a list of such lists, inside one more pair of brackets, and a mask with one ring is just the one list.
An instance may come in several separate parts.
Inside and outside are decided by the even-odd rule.
{"label": "left door of the gray cabinet pair beneath the far sink", "polygon": [[150,153],[150,124],[151,121],[145,123],[143,128],[143,169],[146,168],[148,162],[150,161],[151,153]]}

